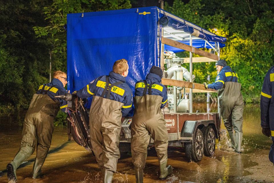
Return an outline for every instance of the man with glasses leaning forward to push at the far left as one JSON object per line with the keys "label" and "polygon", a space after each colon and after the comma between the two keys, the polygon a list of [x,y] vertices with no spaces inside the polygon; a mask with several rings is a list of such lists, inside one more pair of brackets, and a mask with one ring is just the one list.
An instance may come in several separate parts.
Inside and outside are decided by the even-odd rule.
{"label": "man with glasses leaning forward to push at the far left", "polygon": [[[17,181],[16,169],[33,154],[36,147],[36,158],[33,165],[33,178],[41,176],[41,167],[47,157],[51,146],[53,133],[53,120],[59,108],[65,112],[67,101],[54,98],[67,93],[64,88],[67,82],[67,74],[62,71],[53,73],[50,83],[41,85],[33,95],[29,109],[25,116],[21,146],[12,162],[7,165],[8,180]],[[37,141],[37,144],[36,144]]]}

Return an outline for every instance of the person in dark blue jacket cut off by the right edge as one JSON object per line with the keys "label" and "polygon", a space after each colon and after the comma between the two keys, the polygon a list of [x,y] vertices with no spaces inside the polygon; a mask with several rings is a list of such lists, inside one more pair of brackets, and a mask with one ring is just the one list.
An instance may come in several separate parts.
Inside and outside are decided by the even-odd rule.
{"label": "person in dark blue jacket cut off by the right edge", "polygon": [[268,70],[263,80],[261,92],[261,127],[265,136],[271,136],[273,144],[269,160],[274,163],[274,65]]}

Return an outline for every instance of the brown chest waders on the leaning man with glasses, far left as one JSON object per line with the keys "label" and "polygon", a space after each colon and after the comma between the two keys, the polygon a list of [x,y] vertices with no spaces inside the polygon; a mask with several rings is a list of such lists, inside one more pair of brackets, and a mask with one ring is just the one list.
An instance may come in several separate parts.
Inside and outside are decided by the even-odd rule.
{"label": "brown chest waders on the leaning man with glasses, far left", "polygon": [[[45,85],[43,90],[44,88]],[[20,149],[12,162],[7,165],[8,179],[17,180],[16,169],[33,154],[35,147],[37,155],[33,165],[33,178],[38,178],[41,175],[41,167],[51,146],[53,120],[60,105],[60,102],[47,95],[49,89],[42,91],[42,94],[33,95],[23,124]]]}

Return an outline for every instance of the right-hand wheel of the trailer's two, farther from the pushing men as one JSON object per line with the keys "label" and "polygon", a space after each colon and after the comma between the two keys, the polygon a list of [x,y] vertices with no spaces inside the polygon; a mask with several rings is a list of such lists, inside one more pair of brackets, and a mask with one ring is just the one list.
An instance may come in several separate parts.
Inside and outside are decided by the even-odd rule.
{"label": "right-hand wheel of the trailer's two, farther from the pushing men", "polygon": [[205,139],[205,156],[211,157],[215,153],[215,133],[211,126],[203,128],[203,135]]}

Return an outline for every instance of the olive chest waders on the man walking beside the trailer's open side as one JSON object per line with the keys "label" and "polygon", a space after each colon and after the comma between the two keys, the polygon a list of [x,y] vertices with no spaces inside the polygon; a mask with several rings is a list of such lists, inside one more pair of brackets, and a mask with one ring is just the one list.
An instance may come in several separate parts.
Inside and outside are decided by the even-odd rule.
{"label": "olive chest waders on the man walking beside the trailer's open side", "polygon": [[[233,71],[233,73],[235,72]],[[236,74],[234,75],[232,75],[230,81],[225,82],[223,87],[218,90],[218,97],[221,116],[231,139],[232,148],[236,152],[241,153],[244,103],[241,94],[241,84],[237,82]],[[233,82],[233,78],[235,78],[235,82]]]}

